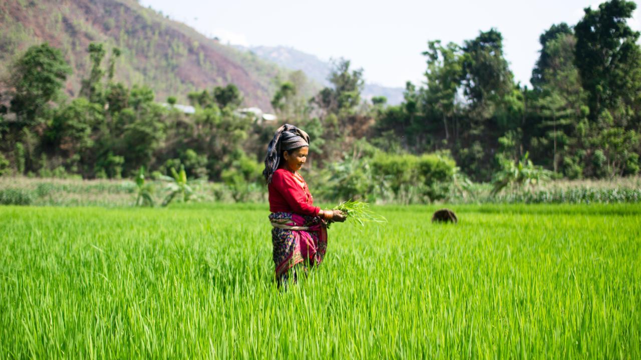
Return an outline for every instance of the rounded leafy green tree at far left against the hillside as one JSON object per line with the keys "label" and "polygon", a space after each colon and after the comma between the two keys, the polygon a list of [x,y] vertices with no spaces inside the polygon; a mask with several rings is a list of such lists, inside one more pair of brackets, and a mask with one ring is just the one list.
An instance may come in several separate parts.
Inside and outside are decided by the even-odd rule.
{"label": "rounded leafy green tree at far left against the hillside", "polygon": [[60,50],[34,45],[13,65],[11,111],[24,125],[33,125],[56,101],[71,67]]}

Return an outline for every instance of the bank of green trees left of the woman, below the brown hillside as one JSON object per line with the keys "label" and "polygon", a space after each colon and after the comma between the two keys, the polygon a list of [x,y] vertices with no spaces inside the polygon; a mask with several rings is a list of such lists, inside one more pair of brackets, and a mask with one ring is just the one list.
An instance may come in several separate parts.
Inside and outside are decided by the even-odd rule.
{"label": "bank of green trees left of the woman, below the brown hillside", "polygon": [[91,44],[90,73],[79,96],[67,99],[60,90],[71,68],[62,53],[48,44],[29,48],[12,69],[10,101],[0,115],[0,172],[120,178],[140,167],[170,174],[182,165],[190,177],[221,179],[237,163],[258,167],[258,143],[272,130],[235,112],[242,102],[236,86],[217,87],[211,97],[192,94],[202,106],[187,115],[173,97],[168,106],[146,86],[115,82],[120,53],[107,56],[102,44]]}

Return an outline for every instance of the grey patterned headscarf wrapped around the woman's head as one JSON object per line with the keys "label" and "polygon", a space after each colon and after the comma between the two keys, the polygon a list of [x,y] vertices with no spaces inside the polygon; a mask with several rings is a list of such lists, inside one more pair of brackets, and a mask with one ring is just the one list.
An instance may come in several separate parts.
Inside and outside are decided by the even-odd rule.
{"label": "grey patterned headscarf wrapped around the woman's head", "polygon": [[310,136],[298,127],[285,124],[276,130],[274,138],[269,142],[267,147],[267,156],[265,156],[265,170],[263,176],[267,184],[272,182],[272,175],[280,165],[280,156],[283,151],[298,149],[299,147],[309,146]]}

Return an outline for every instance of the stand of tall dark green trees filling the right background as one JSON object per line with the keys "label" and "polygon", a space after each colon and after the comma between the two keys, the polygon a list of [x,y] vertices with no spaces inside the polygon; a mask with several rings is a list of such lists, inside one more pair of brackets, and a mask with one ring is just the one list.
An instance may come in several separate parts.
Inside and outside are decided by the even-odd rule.
{"label": "stand of tall dark green trees filling the right background", "polygon": [[570,179],[637,174],[641,52],[626,23],[635,8],[612,0],[544,31],[532,88],[514,83],[495,29],[463,44],[429,42],[425,85],[408,83],[376,133],[412,152],[447,149],[481,181],[527,152]]}

